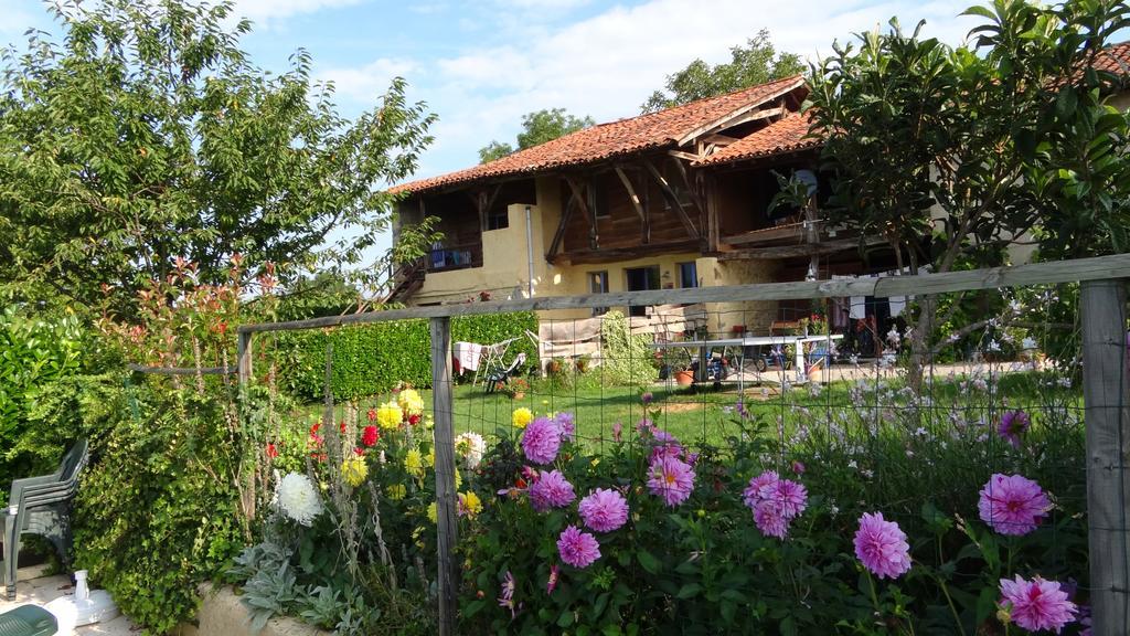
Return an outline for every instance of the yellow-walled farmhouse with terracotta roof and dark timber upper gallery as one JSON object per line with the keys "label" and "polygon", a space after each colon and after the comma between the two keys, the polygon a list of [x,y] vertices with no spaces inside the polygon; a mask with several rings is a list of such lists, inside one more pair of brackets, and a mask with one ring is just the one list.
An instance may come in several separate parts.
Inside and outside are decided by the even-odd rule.
{"label": "yellow-walled farmhouse with terracotta roof and dark timber upper gallery", "polygon": [[[1130,43],[1096,63],[1130,75]],[[818,206],[807,220],[799,209],[770,210],[779,174],[808,180],[817,200],[827,194],[820,141],[800,113],[807,94],[802,77],[779,79],[398,186],[405,198],[394,229],[434,216],[444,240],[398,270],[391,299],[436,304],[480,292],[575,295],[889,270],[894,258],[881,240],[816,218]],[[1111,103],[1125,109],[1130,93]],[[776,302],[706,309],[718,332],[764,333],[807,313]]]}

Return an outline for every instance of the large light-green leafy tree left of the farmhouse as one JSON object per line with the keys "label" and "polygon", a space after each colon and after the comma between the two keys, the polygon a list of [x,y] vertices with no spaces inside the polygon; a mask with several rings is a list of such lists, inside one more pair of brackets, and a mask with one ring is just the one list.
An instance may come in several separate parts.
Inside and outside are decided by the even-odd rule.
{"label": "large light-green leafy tree left of the farmhouse", "polygon": [[238,48],[250,23],[233,23],[232,8],[56,7],[60,40],[34,33],[25,51],[3,51],[9,295],[51,287],[92,303],[107,285],[131,312],[177,258],[203,283],[221,281],[235,253],[285,275],[356,261],[386,226],[380,188],[411,172],[434,115],[395,79],[374,110],[342,118],[304,51],[281,74],[255,67]]}

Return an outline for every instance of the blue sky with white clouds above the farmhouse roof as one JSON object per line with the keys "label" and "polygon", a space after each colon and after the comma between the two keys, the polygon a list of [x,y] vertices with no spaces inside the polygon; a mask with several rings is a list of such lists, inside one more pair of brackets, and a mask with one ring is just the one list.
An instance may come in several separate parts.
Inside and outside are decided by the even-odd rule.
{"label": "blue sky with white clouds above the farmhouse roof", "polygon": [[[513,143],[521,115],[563,106],[598,122],[638,113],[667,74],[695,58],[712,63],[768,28],[779,49],[816,58],[834,40],[927,20],[925,32],[959,43],[972,0],[781,2],[780,0],[237,0],[255,28],[243,48],[280,69],[303,48],[314,74],[334,80],[354,115],[402,76],[409,96],[440,115],[418,177],[467,167],[493,139]],[[37,0],[0,0],[0,42],[28,27],[58,33]]]}

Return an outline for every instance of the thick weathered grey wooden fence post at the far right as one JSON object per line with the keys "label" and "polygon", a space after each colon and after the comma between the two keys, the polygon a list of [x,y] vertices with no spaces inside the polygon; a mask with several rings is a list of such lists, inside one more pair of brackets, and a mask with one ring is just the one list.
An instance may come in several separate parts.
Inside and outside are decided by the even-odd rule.
{"label": "thick weathered grey wooden fence post at the far right", "polygon": [[1130,412],[1123,281],[1081,284],[1092,633],[1130,634]]}

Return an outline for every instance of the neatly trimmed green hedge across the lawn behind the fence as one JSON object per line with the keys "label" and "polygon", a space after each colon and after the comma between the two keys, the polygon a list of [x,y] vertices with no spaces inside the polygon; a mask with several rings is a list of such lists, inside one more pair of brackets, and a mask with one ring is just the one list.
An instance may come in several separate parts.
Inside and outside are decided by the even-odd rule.
{"label": "neatly trimmed green hedge across the lawn behind the fence", "polygon": [[[490,344],[519,338],[510,354],[524,352],[529,364],[537,350],[525,329],[538,330],[532,311],[452,318],[453,341]],[[295,397],[322,398],[325,347],[333,344],[332,390],[334,399],[354,399],[388,392],[400,380],[417,387],[432,386],[432,338],[426,320],[398,320],[337,329],[288,332],[276,346],[279,383]]]}

